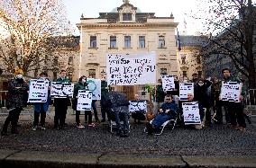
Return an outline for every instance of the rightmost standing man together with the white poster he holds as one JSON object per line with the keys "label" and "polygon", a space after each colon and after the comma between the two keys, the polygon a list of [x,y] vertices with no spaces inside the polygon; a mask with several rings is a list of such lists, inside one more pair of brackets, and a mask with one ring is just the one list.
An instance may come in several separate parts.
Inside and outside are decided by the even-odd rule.
{"label": "rightmost standing man together with the white poster he holds", "polygon": [[[245,124],[245,119],[242,112],[242,103],[241,103],[242,95],[244,94],[243,88],[241,90],[239,90],[239,87],[234,89],[237,91],[239,90],[240,94],[239,95],[236,95],[236,93],[231,94],[233,95],[233,100],[232,99],[224,100],[222,98],[224,97],[224,94],[228,94],[228,90],[230,91],[233,89],[233,86],[235,85],[235,83],[237,83],[238,85],[242,85],[242,82],[239,78],[231,75],[231,70],[229,68],[224,68],[222,70],[222,73],[224,75],[224,79],[223,79],[223,84],[221,89],[221,99],[222,101],[224,101],[224,103],[227,106],[227,111],[228,111],[228,115],[230,117],[230,122],[231,122],[230,127],[234,129],[245,130],[246,124]],[[229,83],[229,85],[227,85],[229,89],[224,88],[225,83]],[[224,92],[225,90],[227,90],[227,92]],[[235,102],[234,100],[239,100],[239,101]],[[237,126],[237,123],[238,123],[238,126]]]}

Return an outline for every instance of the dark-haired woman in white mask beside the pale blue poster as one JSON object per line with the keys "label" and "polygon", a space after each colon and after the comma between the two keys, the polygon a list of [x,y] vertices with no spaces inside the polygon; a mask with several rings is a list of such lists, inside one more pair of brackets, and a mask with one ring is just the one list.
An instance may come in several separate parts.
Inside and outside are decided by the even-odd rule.
{"label": "dark-haired woman in white mask beside the pale blue poster", "polygon": [[[77,122],[77,128],[85,128],[80,123],[80,111],[78,111],[78,91],[79,90],[87,90],[87,76],[82,75],[79,80],[78,84],[75,84],[74,86],[74,98],[73,98],[73,110],[76,111],[76,122]],[[92,123],[92,112],[91,111],[85,111],[85,120],[87,120],[88,117],[88,126],[95,126]]]}

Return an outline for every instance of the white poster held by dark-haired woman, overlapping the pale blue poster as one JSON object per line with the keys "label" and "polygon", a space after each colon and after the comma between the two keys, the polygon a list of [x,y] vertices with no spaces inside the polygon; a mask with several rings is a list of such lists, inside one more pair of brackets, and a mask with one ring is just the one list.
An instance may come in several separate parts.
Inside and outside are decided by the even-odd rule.
{"label": "white poster held by dark-haired woman, overlapping the pale blue poster", "polygon": [[91,91],[78,90],[77,111],[91,111],[92,97],[93,97],[93,94]]}

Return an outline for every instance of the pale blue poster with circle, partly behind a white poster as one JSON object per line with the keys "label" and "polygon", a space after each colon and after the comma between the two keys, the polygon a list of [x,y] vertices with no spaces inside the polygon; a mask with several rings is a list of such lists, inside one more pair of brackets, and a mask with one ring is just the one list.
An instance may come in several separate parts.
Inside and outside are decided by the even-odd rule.
{"label": "pale blue poster with circle, partly behind a white poster", "polygon": [[101,80],[87,78],[87,87],[93,93],[93,100],[101,100]]}

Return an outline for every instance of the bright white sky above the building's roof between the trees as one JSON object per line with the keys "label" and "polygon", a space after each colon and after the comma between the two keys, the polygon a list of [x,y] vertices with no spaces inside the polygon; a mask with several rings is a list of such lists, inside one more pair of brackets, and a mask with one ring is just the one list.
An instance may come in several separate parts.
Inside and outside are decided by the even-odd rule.
{"label": "bright white sky above the building's roof between the trees", "polygon": [[[74,27],[80,22],[80,16],[96,18],[98,13],[109,13],[123,4],[123,0],[63,0],[67,7],[69,21]],[[196,9],[196,0],[130,0],[130,4],[141,9],[142,13],[155,13],[156,16],[168,17],[173,13],[175,22],[179,22],[178,31],[184,31],[187,22],[187,34],[195,34],[195,21],[186,13]],[[78,31],[77,31],[78,33]]]}

